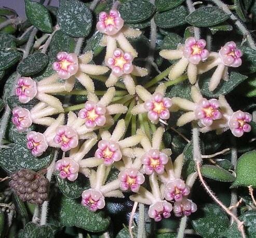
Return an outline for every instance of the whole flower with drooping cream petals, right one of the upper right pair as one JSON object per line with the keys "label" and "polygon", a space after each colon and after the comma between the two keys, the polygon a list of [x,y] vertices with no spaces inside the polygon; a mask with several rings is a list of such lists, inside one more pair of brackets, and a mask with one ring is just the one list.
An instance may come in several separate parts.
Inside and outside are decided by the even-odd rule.
{"label": "whole flower with drooping cream petals, right one of the upper right pair", "polygon": [[203,74],[218,66],[209,82],[209,90],[213,91],[221,79],[228,79],[228,67],[239,67],[242,64],[241,57],[242,52],[237,49],[234,41],[229,41],[221,47],[219,53],[211,52],[211,57],[209,57],[211,60],[199,65],[198,74]]}

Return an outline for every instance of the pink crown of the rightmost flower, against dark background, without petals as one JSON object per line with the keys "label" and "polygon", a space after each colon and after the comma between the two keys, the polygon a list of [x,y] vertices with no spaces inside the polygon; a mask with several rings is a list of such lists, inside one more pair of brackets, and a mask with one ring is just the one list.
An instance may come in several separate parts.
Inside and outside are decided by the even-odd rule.
{"label": "pink crown of the rightmost flower, against dark background, without petals", "polygon": [[228,125],[230,130],[234,136],[240,137],[245,132],[251,131],[251,126],[249,122],[251,122],[252,116],[249,113],[244,113],[241,110],[236,111],[231,116],[230,120],[228,121]]}

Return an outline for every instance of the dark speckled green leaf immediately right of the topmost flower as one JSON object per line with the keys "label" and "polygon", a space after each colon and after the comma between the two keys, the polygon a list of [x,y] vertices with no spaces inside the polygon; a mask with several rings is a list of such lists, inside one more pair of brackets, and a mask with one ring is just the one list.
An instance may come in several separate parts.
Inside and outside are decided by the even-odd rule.
{"label": "dark speckled green leaf immediately right of the topmost flower", "polygon": [[161,28],[172,28],[186,24],[188,11],[184,6],[179,6],[169,11],[157,12],[155,14],[155,23]]}

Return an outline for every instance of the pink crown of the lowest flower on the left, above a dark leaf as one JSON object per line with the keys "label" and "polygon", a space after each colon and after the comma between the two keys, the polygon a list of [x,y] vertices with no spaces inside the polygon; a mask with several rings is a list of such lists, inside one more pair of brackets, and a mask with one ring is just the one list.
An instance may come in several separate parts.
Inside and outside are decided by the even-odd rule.
{"label": "pink crown of the lowest flower on the left, above a dark leaf", "polygon": [[86,206],[90,211],[96,212],[105,206],[105,198],[100,191],[88,189],[82,193],[82,205]]}

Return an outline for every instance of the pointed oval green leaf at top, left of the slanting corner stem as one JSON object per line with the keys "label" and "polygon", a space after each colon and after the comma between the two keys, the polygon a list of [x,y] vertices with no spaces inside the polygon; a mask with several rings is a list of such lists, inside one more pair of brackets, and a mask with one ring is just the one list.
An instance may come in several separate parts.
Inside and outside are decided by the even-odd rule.
{"label": "pointed oval green leaf at top, left of the slanting corner stem", "polygon": [[212,26],[226,21],[228,16],[219,7],[200,7],[186,17],[186,21],[193,26]]}

